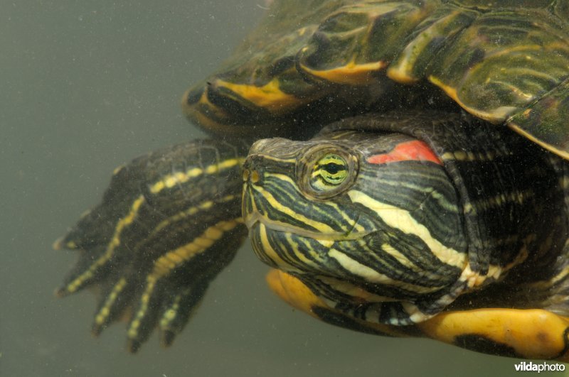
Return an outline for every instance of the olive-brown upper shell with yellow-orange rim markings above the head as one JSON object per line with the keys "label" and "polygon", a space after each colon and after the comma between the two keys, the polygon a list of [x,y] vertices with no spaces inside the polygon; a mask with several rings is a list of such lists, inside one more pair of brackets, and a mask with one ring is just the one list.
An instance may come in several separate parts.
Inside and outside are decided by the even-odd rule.
{"label": "olive-brown upper shell with yellow-orange rim markings above the head", "polygon": [[307,119],[454,102],[569,158],[568,19],[551,0],[277,0],[184,111],[214,132],[298,136]]}

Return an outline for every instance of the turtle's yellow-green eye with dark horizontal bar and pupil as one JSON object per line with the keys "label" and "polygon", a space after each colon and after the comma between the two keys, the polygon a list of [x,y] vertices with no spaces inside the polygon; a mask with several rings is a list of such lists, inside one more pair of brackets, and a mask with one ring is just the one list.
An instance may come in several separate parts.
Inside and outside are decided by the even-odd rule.
{"label": "turtle's yellow-green eye with dark horizontal bar and pupil", "polygon": [[341,155],[327,153],[314,164],[310,185],[317,191],[334,189],[346,180],[348,168],[348,163]]}

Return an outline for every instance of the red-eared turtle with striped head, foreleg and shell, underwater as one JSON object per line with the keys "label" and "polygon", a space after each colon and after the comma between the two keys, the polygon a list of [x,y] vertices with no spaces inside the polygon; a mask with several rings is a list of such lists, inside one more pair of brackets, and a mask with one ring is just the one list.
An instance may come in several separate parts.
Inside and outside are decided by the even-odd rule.
{"label": "red-eared turtle with striped head, foreleg and shell, underwater", "polygon": [[92,332],[174,342],[248,237],[324,322],[569,360],[569,2],[275,0],[54,248]]}

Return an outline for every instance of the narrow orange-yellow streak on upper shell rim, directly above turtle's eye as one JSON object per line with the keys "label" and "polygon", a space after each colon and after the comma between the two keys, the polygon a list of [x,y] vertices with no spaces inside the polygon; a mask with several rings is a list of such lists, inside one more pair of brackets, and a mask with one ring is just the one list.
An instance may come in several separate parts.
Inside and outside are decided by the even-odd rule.
{"label": "narrow orange-yellow streak on upper shell rim, directly above turtle's eye", "polygon": [[300,65],[302,70],[309,75],[319,77],[329,82],[336,82],[337,84],[349,85],[365,85],[373,80],[373,73],[383,70],[387,67],[387,63],[383,61],[368,62],[358,64],[351,60],[343,67],[332,68],[330,70],[312,70],[306,65]]}

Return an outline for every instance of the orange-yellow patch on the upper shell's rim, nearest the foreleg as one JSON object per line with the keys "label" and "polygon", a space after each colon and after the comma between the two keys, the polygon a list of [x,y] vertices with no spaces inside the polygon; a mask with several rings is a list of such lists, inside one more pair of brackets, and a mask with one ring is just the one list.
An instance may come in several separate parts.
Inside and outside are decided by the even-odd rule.
{"label": "orange-yellow patch on the upper shell's rim, nearest the foreleg", "polygon": [[267,84],[257,87],[248,84],[234,84],[233,82],[216,80],[217,87],[224,87],[243,97],[248,102],[262,109],[267,109],[273,114],[281,114],[304,104],[304,100],[292,94],[282,92],[279,80],[274,79]]}

